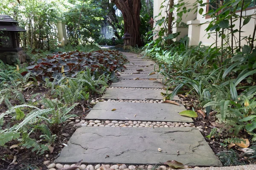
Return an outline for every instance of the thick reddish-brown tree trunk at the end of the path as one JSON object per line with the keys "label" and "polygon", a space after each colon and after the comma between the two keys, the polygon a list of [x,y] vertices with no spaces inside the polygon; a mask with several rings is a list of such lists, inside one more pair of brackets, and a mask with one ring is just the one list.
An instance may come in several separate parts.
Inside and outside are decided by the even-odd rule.
{"label": "thick reddish-brown tree trunk at the end of the path", "polygon": [[140,0],[111,0],[122,12],[125,22],[125,33],[131,34],[131,45],[142,46],[140,38]]}

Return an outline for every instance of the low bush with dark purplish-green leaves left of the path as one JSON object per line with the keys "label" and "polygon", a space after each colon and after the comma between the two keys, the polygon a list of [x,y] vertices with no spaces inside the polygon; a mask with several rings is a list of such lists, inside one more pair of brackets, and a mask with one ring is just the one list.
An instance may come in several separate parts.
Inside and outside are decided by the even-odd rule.
{"label": "low bush with dark purplish-green leaves left of the path", "polygon": [[27,67],[32,73],[38,74],[43,80],[45,78],[63,75],[75,77],[79,71],[91,68],[93,74],[111,74],[118,69],[123,69],[126,62],[125,57],[117,51],[94,51],[94,52],[57,52],[46,58],[31,62]]}

